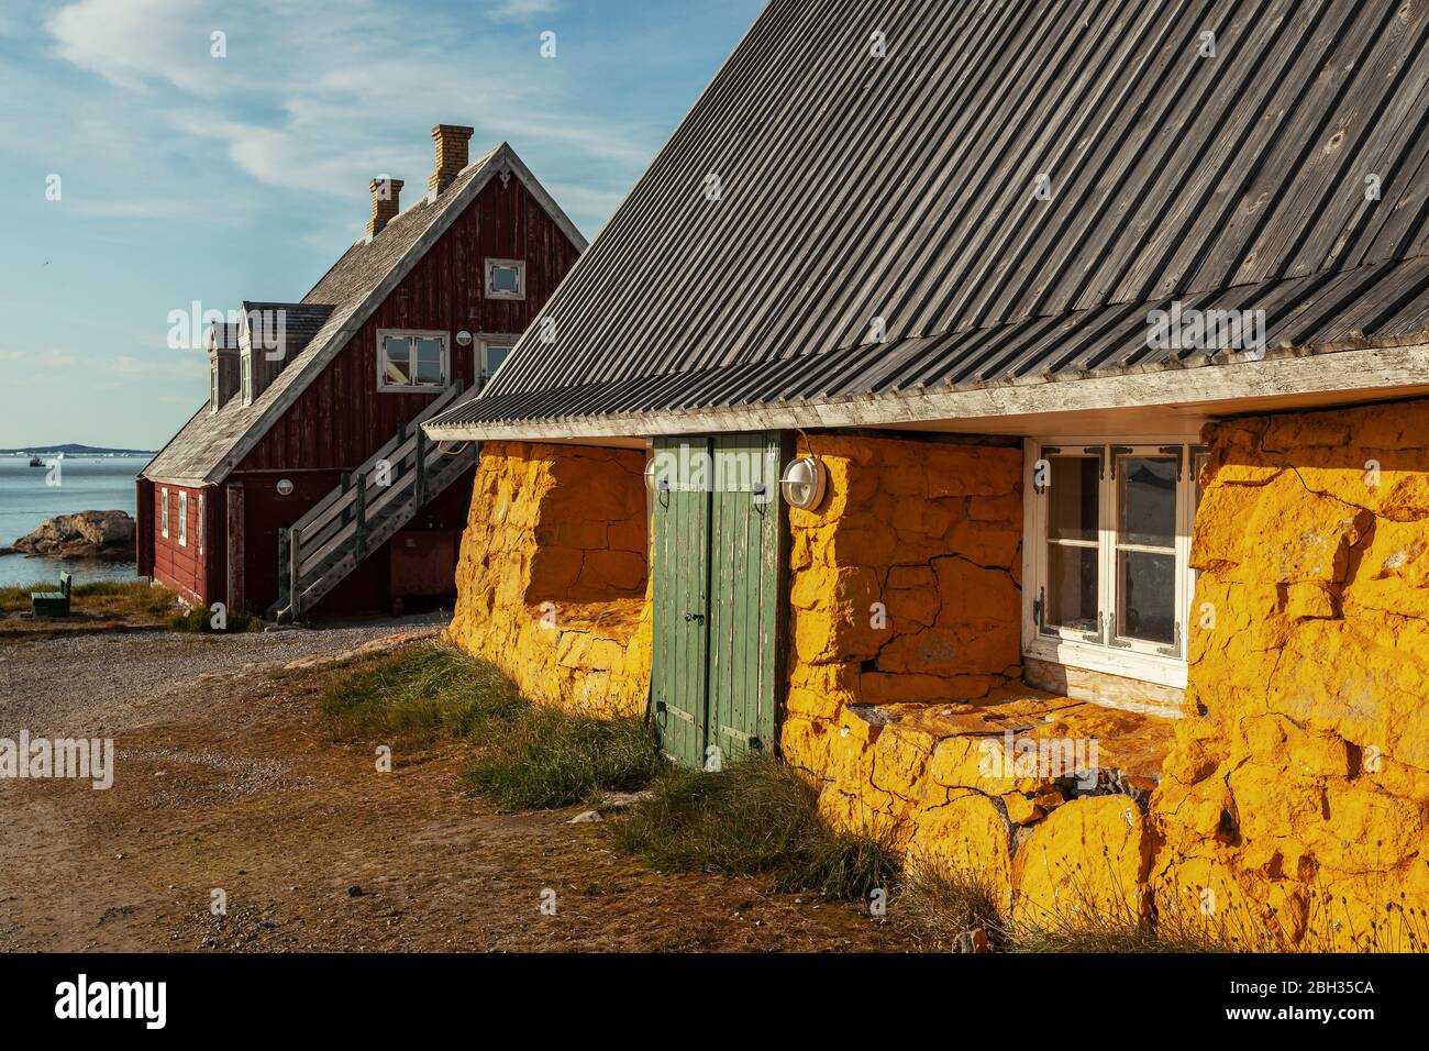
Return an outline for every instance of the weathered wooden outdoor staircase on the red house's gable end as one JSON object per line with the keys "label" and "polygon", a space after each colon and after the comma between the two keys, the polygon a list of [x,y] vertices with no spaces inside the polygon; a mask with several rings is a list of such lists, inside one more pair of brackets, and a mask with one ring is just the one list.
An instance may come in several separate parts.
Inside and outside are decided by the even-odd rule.
{"label": "weathered wooden outdoor staircase on the red house's gable end", "polygon": [[312,510],[279,531],[279,598],[270,621],[303,616],[476,463],[474,446],[447,455],[422,430],[460,396],[462,386],[457,380],[447,388]]}

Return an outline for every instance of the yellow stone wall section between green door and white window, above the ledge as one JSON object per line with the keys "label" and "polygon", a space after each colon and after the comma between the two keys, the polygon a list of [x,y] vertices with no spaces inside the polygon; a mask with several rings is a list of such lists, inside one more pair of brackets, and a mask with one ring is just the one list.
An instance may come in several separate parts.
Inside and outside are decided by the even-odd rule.
{"label": "yellow stone wall section between green door and white window, above the ledge", "polygon": [[1022,450],[845,435],[815,450],[827,493],[789,515],[789,722],[1015,682]]}

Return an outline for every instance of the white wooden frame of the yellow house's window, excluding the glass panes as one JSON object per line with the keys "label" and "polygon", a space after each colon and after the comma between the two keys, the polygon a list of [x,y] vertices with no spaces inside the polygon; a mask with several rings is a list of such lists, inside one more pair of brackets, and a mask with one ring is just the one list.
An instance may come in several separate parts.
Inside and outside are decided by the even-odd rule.
{"label": "white wooden frame of the yellow house's window, excluding the glass panes", "polygon": [[[1135,456],[1169,455],[1170,448],[1179,449],[1180,478],[1176,483],[1175,518],[1175,623],[1176,635],[1172,643],[1132,639],[1120,635],[1122,625],[1113,628],[1120,596],[1117,595],[1116,553],[1127,545],[1120,543],[1117,532],[1117,482],[1120,460]],[[1057,449],[1066,456],[1096,458],[1097,475],[1097,616],[1096,632],[1082,632],[1057,625],[1045,626],[1045,603],[1049,585],[1049,541],[1047,526],[1050,500],[1046,492],[1036,488],[1036,465],[1047,458],[1045,450]],[[1099,455],[1092,452],[1099,450]],[[1162,686],[1185,689],[1187,678],[1186,651],[1190,625],[1190,608],[1196,593],[1196,571],[1190,568],[1190,533],[1198,499],[1198,460],[1205,455],[1205,446],[1195,435],[1137,435],[1127,438],[1037,438],[1025,442],[1027,470],[1025,483],[1025,533],[1023,533],[1023,628],[1022,652],[1025,656],[1049,663],[1086,671],[1119,675]],[[1066,543],[1066,542],[1063,542]],[[1070,543],[1067,546],[1092,546]],[[1143,549],[1142,545],[1130,545]]]}

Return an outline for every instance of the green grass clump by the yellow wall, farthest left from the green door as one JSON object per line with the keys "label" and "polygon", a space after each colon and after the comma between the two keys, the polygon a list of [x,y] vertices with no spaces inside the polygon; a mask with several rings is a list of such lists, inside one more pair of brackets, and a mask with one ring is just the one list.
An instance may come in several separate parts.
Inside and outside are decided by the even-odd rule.
{"label": "green grass clump by the yellow wall, farthest left from the green door", "polygon": [[400,649],[346,668],[319,698],[340,741],[499,738],[526,702],[510,679],[454,646]]}

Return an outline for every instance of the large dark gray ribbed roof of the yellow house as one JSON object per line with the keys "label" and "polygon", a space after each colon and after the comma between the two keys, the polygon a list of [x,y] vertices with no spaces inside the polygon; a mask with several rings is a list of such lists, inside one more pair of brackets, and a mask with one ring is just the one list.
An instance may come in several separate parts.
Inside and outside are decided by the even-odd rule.
{"label": "large dark gray ribbed roof of the yellow house", "polygon": [[1422,0],[772,0],[554,342],[433,426],[1193,366],[1146,343],[1172,299],[1423,332],[1426,40]]}

